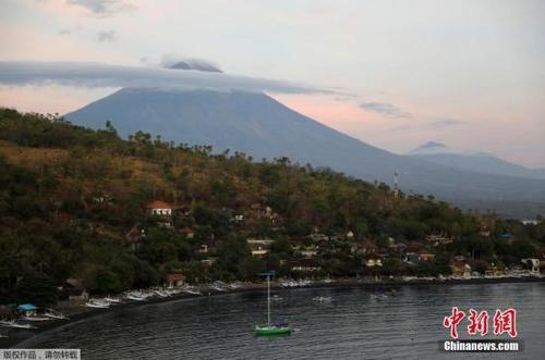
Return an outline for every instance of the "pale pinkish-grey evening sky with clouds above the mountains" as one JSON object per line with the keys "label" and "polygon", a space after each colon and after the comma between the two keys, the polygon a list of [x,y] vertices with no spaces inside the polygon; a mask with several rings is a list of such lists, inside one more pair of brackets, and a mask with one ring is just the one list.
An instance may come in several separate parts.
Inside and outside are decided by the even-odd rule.
{"label": "pale pinkish-grey evening sky with clouds above the mountains", "polygon": [[62,114],[192,59],[223,74],[172,82],[266,91],[397,153],[434,140],[545,167],[543,14],[533,0],[0,0],[0,105]]}

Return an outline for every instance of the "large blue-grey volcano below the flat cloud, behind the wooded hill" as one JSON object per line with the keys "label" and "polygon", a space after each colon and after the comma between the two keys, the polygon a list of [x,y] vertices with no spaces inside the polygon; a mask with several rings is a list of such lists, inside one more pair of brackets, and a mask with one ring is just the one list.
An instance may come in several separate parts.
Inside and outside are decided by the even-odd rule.
{"label": "large blue-grey volcano below the flat cloud, behind the wooded hill", "polygon": [[461,171],[419,157],[397,156],[304,116],[265,94],[215,90],[121,89],[66,114],[92,128],[110,121],[121,136],[136,131],[177,142],[243,151],[256,160],[289,157],[409,193],[433,194],[463,206],[464,199],[545,203],[545,182]]}

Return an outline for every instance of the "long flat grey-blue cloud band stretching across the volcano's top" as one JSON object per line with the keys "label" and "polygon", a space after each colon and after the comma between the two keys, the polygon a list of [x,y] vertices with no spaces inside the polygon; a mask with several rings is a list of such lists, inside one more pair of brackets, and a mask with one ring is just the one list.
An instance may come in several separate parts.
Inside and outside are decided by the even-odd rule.
{"label": "long flat grey-blue cloud band stretching across the volcano's top", "polygon": [[77,87],[154,87],[270,91],[278,94],[339,94],[332,89],[284,80],[217,72],[109,65],[89,62],[0,61],[2,85],[66,85]]}

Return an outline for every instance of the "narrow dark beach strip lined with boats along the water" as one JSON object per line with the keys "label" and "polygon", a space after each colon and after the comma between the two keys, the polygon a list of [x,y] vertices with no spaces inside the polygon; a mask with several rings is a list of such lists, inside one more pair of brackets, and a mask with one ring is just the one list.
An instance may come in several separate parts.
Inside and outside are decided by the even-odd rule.
{"label": "narrow dark beach strip lined with boats along the water", "polygon": [[[308,286],[301,287],[282,287],[278,283],[271,283],[270,288],[274,290],[288,291],[293,289],[324,289],[324,288],[390,288],[390,287],[400,287],[400,286],[439,286],[439,285],[461,285],[461,284],[510,284],[510,283],[543,283],[545,282],[545,277],[499,277],[499,278],[450,278],[445,281],[438,280],[414,280],[414,281],[401,281],[401,280],[386,280],[386,281],[360,281],[355,278],[347,278],[347,280],[336,280],[330,283],[317,282],[313,283]],[[177,294],[168,298],[152,298],[147,301],[132,301],[132,302],[123,302],[120,305],[114,305],[109,309],[88,309],[82,310],[80,312],[75,312],[73,314],[69,314],[69,320],[50,320],[45,323],[38,323],[38,328],[35,330],[16,330],[11,331],[8,337],[0,338],[0,349],[9,349],[9,348],[19,348],[20,344],[28,340],[29,338],[46,333],[48,331],[60,328],[63,326],[73,325],[80,321],[84,321],[86,319],[90,319],[93,316],[98,316],[100,314],[119,312],[121,310],[145,307],[149,305],[158,305],[164,302],[172,302],[178,300],[192,300],[192,299],[202,299],[210,296],[226,296],[231,294],[245,294],[245,293],[258,293],[263,291],[266,288],[265,284],[252,284],[246,285],[241,288],[226,290],[226,291],[217,291],[209,290],[206,295],[191,295],[191,294]],[[2,330],[8,327],[0,326],[0,334],[5,334]]]}

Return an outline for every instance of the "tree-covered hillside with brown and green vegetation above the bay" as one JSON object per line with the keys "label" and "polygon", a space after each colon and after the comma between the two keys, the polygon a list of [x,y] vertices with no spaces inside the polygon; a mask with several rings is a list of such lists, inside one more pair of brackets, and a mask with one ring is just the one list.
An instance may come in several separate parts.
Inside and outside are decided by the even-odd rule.
{"label": "tree-covered hillside with brown and green vegetation above the bay", "polygon": [[[90,131],[2,109],[0,169],[0,303],[55,301],[70,277],[109,293],[162,284],[170,272],[191,282],[251,280],[265,269],[283,276],[436,275],[450,272],[455,256],[484,271],[541,258],[545,246],[543,222],[525,226],[431,196],[396,197],[386,184],[286,158],[254,162],[141,132],[123,140],[109,123]],[[173,206],[171,226],[148,214],[153,200]],[[431,234],[453,241],[431,246]],[[247,238],[275,241],[268,255],[253,257]],[[308,262],[298,251],[313,248],[319,271],[295,272],[294,263]],[[435,257],[409,264],[411,248]],[[377,270],[365,266],[373,256],[383,259]]]}

